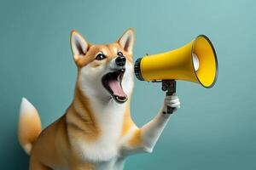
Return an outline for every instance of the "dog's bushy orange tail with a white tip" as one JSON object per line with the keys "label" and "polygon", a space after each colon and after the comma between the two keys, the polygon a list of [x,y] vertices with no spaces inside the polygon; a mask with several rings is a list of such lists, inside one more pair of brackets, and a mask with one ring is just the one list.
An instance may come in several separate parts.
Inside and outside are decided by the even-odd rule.
{"label": "dog's bushy orange tail with a white tip", "polygon": [[29,155],[32,144],[41,133],[41,121],[37,109],[25,98],[20,104],[20,120],[18,124],[18,139],[22,148]]}

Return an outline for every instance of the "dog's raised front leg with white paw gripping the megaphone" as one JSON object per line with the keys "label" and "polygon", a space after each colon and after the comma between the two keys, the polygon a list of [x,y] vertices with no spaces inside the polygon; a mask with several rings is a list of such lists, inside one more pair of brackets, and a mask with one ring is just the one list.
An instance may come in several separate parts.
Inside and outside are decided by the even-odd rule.
{"label": "dog's raised front leg with white paw gripping the megaphone", "polygon": [[180,107],[177,94],[166,96],[164,105],[160,109],[160,112],[154,116],[150,122],[132,132],[131,137],[125,144],[126,153],[152,152],[154,144],[156,144],[171,116],[171,114],[167,114],[167,106],[171,106],[174,108],[174,111],[177,111]]}

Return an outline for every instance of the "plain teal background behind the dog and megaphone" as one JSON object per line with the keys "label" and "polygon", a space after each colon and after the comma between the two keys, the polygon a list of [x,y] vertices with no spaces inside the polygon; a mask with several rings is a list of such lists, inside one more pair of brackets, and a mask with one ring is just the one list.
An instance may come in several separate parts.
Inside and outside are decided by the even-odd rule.
{"label": "plain teal background behind the dog and megaphone", "polygon": [[[43,126],[73,98],[76,68],[69,34],[93,43],[136,31],[134,59],[178,48],[199,34],[212,40],[219,75],[214,88],[177,82],[181,109],[152,154],[131,156],[125,169],[256,169],[255,1],[14,1],[0,3],[0,165],[27,169],[16,138],[20,99]],[[135,81],[132,117],[148,122],[164,99],[160,84]]]}

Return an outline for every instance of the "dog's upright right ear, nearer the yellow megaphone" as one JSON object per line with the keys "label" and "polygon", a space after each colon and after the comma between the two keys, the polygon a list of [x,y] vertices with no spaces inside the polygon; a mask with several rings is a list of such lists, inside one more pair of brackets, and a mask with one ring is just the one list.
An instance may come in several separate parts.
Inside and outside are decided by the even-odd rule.
{"label": "dog's upright right ear, nearer the yellow megaphone", "polygon": [[134,29],[129,28],[125,31],[125,33],[122,35],[122,37],[119,38],[118,42],[122,48],[128,53],[132,54],[133,52],[133,46],[134,46]]}

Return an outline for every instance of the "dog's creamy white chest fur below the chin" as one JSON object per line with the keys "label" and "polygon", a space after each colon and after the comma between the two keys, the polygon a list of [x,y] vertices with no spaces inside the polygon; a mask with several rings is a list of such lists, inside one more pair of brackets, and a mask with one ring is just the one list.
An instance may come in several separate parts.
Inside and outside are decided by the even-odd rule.
{"label": "dog's creamy white chest fur below the chin", "polygon": [[[94,104],[97,102],[95,101]],[[107,106],[94,105],[96,122],[100,128],[101,136],[93,143],[86,143],[76,139],[77,151],[84,161],[109,163],[119,157],[119,138],[123,124],[125,105],[117,105],[111,101]]]}

